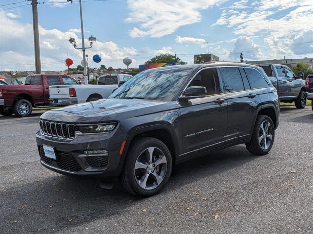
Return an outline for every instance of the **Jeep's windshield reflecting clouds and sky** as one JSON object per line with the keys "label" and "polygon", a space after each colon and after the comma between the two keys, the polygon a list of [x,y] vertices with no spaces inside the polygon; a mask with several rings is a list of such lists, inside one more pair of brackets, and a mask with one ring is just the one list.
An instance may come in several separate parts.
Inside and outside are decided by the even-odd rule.
{"label": "Jeep's windshield reflecting clouds and sky", "polygon": [[115,90],[109,98],[169,101],[191,71],[190,67],[143,71]]}

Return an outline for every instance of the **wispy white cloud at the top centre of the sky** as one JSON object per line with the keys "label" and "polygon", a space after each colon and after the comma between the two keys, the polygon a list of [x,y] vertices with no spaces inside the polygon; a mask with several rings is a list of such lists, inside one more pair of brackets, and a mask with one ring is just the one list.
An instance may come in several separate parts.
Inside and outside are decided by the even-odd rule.
{"label": "wispy white cloud at the top centre of the sky", "polygon": [[201,21],[201,10],[218,5],[224,0],[128,0],[130,13],[127,23],[140,24],[134,27],[131,37],[150,36],[159,38],[175,32],[179,27]]}

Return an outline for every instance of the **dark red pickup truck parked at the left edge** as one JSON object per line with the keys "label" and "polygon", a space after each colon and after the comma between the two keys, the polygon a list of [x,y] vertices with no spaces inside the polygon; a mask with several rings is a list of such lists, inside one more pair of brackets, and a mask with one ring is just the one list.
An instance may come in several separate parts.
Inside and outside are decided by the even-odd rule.
{"label": "dark red pickup truck parked at the left edge", "polygon": [[49,105],[49,86],[80,84],[79,81],[61,74],[30,75],[24,85],[0,86],[0,114],[27,117],[32,107]]}

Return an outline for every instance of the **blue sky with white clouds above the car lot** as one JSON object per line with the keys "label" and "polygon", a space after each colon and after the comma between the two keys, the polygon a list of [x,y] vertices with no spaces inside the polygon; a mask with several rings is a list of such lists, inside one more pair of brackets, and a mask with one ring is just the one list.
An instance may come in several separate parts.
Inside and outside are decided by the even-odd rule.
{"label": "blue sky with white clouds above the car lot", "polygon": [[[45,0],[38,5],[42,70],[74,65],[81,51],[78,0]],[[44,2],[44,0],[38,0]],[[15,3],[15,4],[12,4]],[[34,70],[31,5],[0,0],[0,70]],[[11,5],[7,5],[11,4]],[[97,38],[87,50],[89,65],[138,67],[161,53],[193,63],[193,54],[209,52],[220,60],[313,57],[312,0],[83,0],[85,39]],[[100,54],[100,64],[91,57]]]}

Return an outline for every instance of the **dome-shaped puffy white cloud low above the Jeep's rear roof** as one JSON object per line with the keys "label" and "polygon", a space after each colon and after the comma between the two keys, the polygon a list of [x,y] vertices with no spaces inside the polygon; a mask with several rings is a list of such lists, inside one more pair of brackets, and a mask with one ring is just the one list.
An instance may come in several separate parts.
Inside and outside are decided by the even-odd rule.
{"label": "dome-shaped puffy white cloud low above the Jeep's rear roof", "polygon": [[243,53],[244,60],[262,59],[263,54],[258,45],[256,45],[252,39],[246,36],[240,36],[237,38],[234,49],[230,53],[230,58],[234,60],[240,60],[239,55]]}

